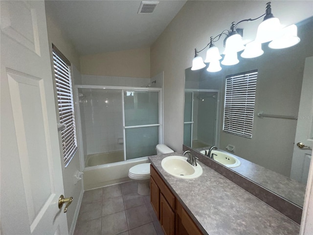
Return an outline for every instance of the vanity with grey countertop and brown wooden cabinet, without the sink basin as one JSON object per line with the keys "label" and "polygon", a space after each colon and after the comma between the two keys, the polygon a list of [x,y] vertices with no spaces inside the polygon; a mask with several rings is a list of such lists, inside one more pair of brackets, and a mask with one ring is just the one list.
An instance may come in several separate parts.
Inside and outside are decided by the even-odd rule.
{"label": "vanity with grey countertop and brown wooden cabinet, without the sink basin", "polygon": [[151,204],[166,235],[296,235],[300,226],[222,175],[202,164],[195,179],[168,174],[149,157]]}

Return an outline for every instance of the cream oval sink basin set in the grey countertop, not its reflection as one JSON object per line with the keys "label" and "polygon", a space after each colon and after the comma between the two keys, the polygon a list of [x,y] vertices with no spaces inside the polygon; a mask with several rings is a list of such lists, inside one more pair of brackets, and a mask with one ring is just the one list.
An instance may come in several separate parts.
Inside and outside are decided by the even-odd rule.
{"label": "cream oval sink basin set in the grey countertop, not its reflection", "polygon": [[181,179],[194,179],[202,174],[201,165],[192,166],[187,163],[187,158],[182,156],[166,157],[161,165],[167,173]]}

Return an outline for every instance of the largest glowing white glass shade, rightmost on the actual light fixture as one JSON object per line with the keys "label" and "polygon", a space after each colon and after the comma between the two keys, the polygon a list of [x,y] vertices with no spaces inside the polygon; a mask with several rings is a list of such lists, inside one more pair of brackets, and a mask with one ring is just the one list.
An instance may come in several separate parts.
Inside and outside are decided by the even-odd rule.
{"label": "largest glowing white glass shade, rightmost on the actual light fixture", "polygon": [[281,25],[278,18],[272,17],[259,24],[255,41],[266,43],[279,36]]}

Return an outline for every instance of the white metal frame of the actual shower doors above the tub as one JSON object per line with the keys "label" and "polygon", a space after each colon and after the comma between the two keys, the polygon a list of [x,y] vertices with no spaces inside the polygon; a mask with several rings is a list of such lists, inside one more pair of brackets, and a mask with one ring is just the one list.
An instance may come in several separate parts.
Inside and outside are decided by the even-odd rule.
{"label": "white metal frame of the actual shower doors above the tub", "polygon": [[[83,148],[83,137],[82,137],[82,123],[80,118],[80,107],[79,107],[79,92],[78,89],[103,89],[103,90],[119,90],[121,91],[122,96],[122,107],[123,107],[123,150],[124,150],[124,161],[122,162],[116,162],[116,163],[109,163],[109,164],[102,164],[102,165],[96,165],[96,166],[85,166],[85,156],[84,156],[84,148]],[[148,156],[140,157],[140,158],[134,158],[130,160],[126,160],[126,136],[125,136],[125,110],[124,110],[124,91],[132,91],[132,92],[158,92],[158,111],[159,111],[159,124],[151,124],[151,125],[141,125],[140,127],[148,127],[148,126],[159,126],[159,135],[158,135],[158,142],[163,143],[163,88],[153,88],[153,87],[124,87],[124,86],[101,86],[101,85],[74,85],[74,95],[75,95],[75,114],[76,119],[78,122],[78,125],[80,128],[77,128],[78,132],[78,140],[79,140],[79,153],[80,153],[80,162],[82,166],[82,170],[88,168],[88,169],[97,169],[112,165],[118,165],[118,164],[124,164],[126,162],[135,162],[140,161],[143,159],[147,159]],[[79,115],[78,115],[79,114]],[[139,127],[139,126],[138,126]],[[130,127],[134,128],[134,127]]]}

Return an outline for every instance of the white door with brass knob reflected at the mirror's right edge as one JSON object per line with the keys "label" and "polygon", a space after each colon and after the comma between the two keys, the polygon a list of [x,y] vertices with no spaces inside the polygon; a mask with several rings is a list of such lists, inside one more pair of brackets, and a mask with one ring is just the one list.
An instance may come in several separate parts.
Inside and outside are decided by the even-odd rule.
{"label": "white door with brass knob reflected at the mirror's right edge", "polygon": [[[298,142],[308,147],[299,148]],[[297,129],[294,140],[291,179],[307,183],[313,147],[313,57],[305,60]]]}

